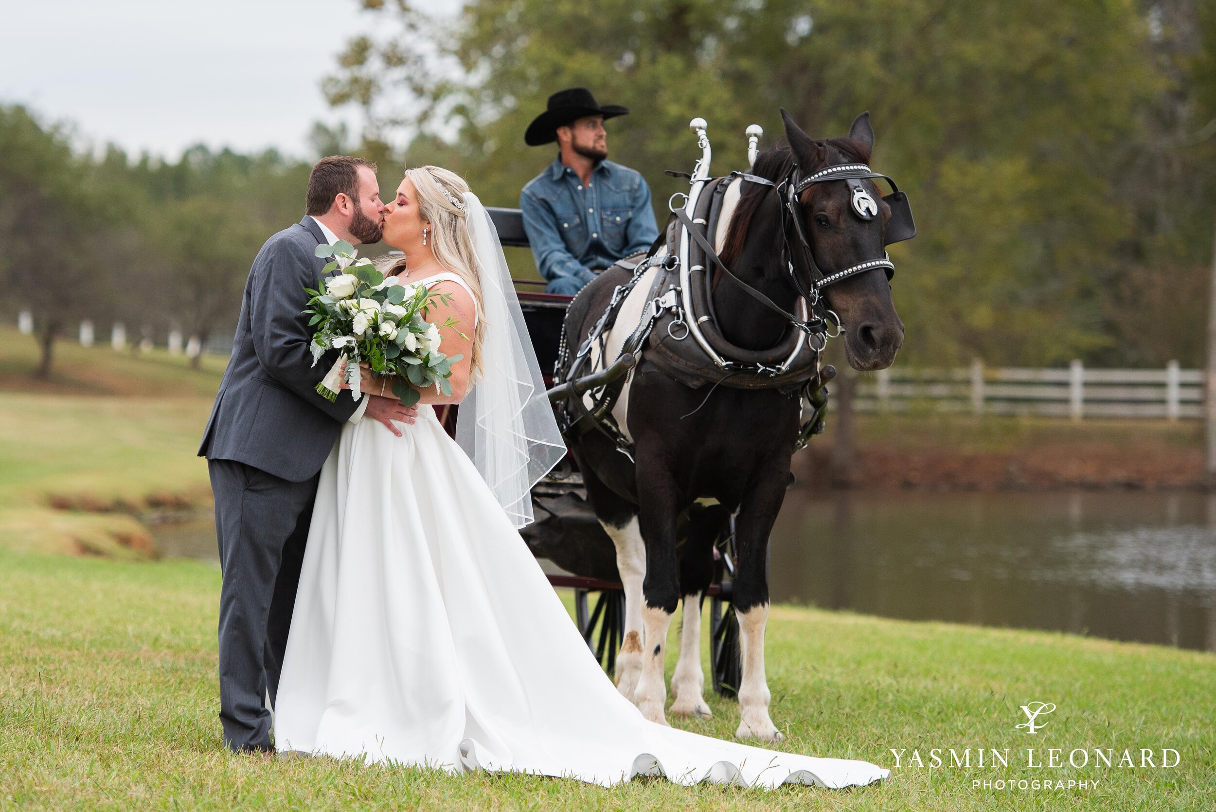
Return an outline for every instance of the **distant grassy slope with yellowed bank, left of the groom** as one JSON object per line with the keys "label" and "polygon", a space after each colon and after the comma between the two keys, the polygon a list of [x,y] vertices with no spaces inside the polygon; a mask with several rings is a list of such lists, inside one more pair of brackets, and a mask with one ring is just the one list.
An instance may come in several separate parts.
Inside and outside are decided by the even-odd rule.
{"label": "distant grassy slope with yellowed bank, left of the groom", "polygon": [[195,450],[227,360],[60,342],[38,382],[36,350],[0,328],[0,548],[147,558],[133,514],[210,502]]}

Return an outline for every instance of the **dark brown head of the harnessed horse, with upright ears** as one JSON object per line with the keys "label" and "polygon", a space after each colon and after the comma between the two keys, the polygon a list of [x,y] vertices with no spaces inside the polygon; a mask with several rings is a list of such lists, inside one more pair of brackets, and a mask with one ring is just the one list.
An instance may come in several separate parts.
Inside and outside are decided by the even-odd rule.
{"label": "dark brown head of the harnessed horse, with upright ears", "polygon": [[[868,164],[874,147],[869,113],[854,120],[846,139],[815,140],[784,109],[786,137],[807,177],[837,164]],[[856,185],[860,184],[860,187]],[[885,256],[891,208],[872,180],[821,182],[801,192],[803,233],[823,276]],[[873,267],[824,287],[827,306],[840,317],[845,355],[854,370],[883,370],[903,343],[903,322],[891,301],[885,267]]]}

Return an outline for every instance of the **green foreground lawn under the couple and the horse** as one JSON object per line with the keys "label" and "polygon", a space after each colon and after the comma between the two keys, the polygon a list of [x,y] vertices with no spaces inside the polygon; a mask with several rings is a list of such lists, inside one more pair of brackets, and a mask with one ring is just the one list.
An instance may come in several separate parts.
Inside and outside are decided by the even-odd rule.
{"label": "green foreground lawn under the couple and the horse", "polygon": [[[0,807],[424,810],[1210,810],[1216,656],[1042,632],[902,622],[779,607],[769,635],[782,749],[894,767],[851,791],[606,790],[572,780],[288,762],[229,755],[216,720],[219,573],[0,552]],[[675,630],[672,630],[672,642]],[[669,675],[674,662],[669,662]],[[1019,705],[1055,703],[1035,735]],[[738,711],[683,722],[730,735]],[[1042,718],[1040,721],[1042,721]],[[578,709],[570,723],[578,724]],[[1025,768],[1025,749],[1172,748],[1161,768]],[[1010,749],[1009,767],[929,768],[929,749]],[[1160,763],[1160,756],[1156,756]],[[1097,780],[1086,790],[973,788],[974,779]]]}

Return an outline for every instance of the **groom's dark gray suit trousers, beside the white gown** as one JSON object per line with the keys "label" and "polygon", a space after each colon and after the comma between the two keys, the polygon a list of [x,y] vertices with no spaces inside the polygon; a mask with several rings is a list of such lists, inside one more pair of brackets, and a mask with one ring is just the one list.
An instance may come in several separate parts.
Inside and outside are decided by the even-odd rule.
{"label": "groom's dark gray suit trousers, beside the white gown", "polygon": [[320,473],[293,483],[235,459],[210,459],[224,586],[220,722],[232,750],[269,750],[270,711]]}

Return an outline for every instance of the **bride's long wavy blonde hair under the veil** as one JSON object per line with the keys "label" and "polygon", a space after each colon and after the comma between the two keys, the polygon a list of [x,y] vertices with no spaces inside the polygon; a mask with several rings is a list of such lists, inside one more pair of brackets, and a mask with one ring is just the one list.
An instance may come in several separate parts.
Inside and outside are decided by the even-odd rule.
{"label": "bride's long wavy blonde hair under the veil", "polygon": [[[413,184],[418,196],[422,219],[430,224],[428,242],[440,266],[456,274],[473,292],[477,308],[477,326],[473,328],[473,351],[469,376],[477,377],[482,365],[482,326],[485,309],[482,305],[482,281],[477,270],[477,253],[468,233],[465,210],[465,192],[468,184],[456,173],[443,167],[416,167],[406,169],[405,176]],[[385,272],[395,276],[405,270],[405,258],[394,263]],[[456,329],[468,335],[468,325],[456,325]]]}

